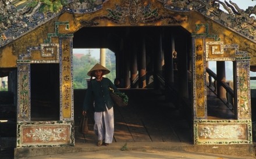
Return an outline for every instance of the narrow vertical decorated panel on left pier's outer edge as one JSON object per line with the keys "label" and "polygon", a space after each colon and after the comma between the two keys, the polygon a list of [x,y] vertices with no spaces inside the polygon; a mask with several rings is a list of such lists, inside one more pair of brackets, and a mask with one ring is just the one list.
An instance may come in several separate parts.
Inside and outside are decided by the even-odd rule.
{"label": "narrow vertical decorated panel on left pier's outer edge", "polygon": [[30,64],[18,64],[17,121],[30,121]]}

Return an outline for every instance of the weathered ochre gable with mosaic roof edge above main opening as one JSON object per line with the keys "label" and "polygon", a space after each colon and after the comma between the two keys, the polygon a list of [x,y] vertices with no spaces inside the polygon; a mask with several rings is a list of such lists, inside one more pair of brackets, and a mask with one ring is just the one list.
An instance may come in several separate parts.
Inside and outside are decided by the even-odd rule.
{"label": "weathered ochre gable with mosaic roof edge above main opening", "polygon": [[[220,4],[229,13],[220,10]],[[9,13],[5,19],[10,23],[1,26],[0,51],[2,56],[13,60],[7,64],[1,58],[2,67],[15,66],[20,56],[30,52],[28,47],[39,47],[48,39],[58,42],[59,33],[73,34],[81,27],[101,26],[182,26],[192,35],[223,41],[225,45],[239,45],[240,50],[251,56],[251,64],[256,64],[256,21],[250,17],[256,13],[256,6],[242,10],[235,3],[230,6],[214,1],[69,1],[59,13],[41,13],[40,3],[33,8],[24,3],[5,5],[4,12]],[[12,10],[8,11],[9,8]],[[69,28],[55,22],[67,22]],[[40,49],[34,52],[39,57]],[[233,57],[234,51],[225,55]]]}

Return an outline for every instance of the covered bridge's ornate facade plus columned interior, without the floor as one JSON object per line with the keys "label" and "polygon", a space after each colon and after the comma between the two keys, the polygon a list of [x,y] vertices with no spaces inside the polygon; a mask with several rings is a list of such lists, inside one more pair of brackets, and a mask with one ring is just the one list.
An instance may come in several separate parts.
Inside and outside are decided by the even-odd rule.
{"label": "covered bridge's ornate facade plus columned interior, without the floor", "polygon": [[[0,109],[17,114],[16,151],[75,145],[73,48],[111,49],[116,76],[127,89],[147,88],[152,76],[154,89],[165,90],[190,116],[191,143],[252,149],[256,6],[243,10],[231,1],[211,0],[61,2],[0,3],[0,75],[8,76]],[[216,61],[217,74],[209,70],[209,61]],[[226,61],[233,62],[231,88]],[[208,114],[213,83],[216,98],[233,103],[232,117]]]}

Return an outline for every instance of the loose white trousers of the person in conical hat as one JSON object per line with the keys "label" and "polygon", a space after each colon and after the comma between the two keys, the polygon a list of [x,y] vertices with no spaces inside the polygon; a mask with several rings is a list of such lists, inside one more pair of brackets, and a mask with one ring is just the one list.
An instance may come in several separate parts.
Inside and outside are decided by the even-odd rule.
{"label": "loose white trousers of the person in conical hat", "polygon": [[113,107],[103,112],[94,113],[94,132],[98,140],[105,140],[105,143],[112,143],[114,135],[114,113]]}

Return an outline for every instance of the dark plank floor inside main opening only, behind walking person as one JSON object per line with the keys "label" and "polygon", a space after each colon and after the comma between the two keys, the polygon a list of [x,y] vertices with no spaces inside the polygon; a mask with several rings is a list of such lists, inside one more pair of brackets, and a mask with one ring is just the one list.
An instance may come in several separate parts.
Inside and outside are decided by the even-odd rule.
{"label": "dark plank floor inside main opening only, behind walking person", "polygon": [[[134,92],[133,92],[134,93]],[[176,119],[176,110],[172,103],[163,101],[161,95],[150,91],[135,92],[129,95],[129,106],[114,107],[115,133],[113,142],[180,142],[179,135],[190,132],[182,129],[179,132],[176,124],[187,124],[186,121]],[[89,133],[86,142],[97,143],[97,136],[93,132],[93,113],[88,115]],[[76,142],[84,142],[83,135],[75,128]],[[177,133],[179,132],[179,134]],[[187,136],[190,136],[188,134]],[[186,140],[191,142],[191,138]]]}

